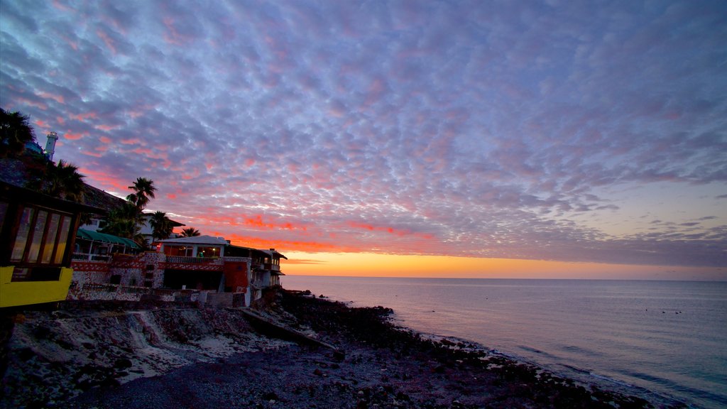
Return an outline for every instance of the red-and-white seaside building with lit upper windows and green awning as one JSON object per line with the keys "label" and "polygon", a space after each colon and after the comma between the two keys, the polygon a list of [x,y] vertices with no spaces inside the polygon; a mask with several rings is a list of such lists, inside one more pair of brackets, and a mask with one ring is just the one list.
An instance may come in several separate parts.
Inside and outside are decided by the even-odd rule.
{"label": "red-and-white seaside building with lit upper windows and green awning", "polygon": [[74,254],[70,299],[132,301],[154,297],[249,306],[262,297],[266,287],[280,285],[280,260],[286,258],[275,249],[231,245],[222,237],[212,236],[161,240],[156,242],[156,251],[143,253],[117,247],[122,243],[113,238],[98,237],[94,242],[96,248],[112,246],[128,252]]}

